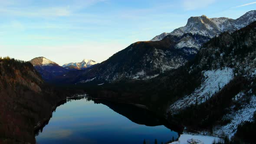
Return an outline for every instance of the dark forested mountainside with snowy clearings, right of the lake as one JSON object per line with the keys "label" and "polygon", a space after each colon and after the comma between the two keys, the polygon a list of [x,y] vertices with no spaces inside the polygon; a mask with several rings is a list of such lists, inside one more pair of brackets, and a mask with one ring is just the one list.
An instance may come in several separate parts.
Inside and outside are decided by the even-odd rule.
{"label": "dark forested mountainside with snowy clearings, right of the lake", "polygon": [[88,92],[98,98],[146,105],[189,132],[226,137],[234,144],[253,144],[255,38],[256,21],[233,33],[213,37],[201,46],[194,59],[177,69],[146,81],[126,79],[95,85]]}

